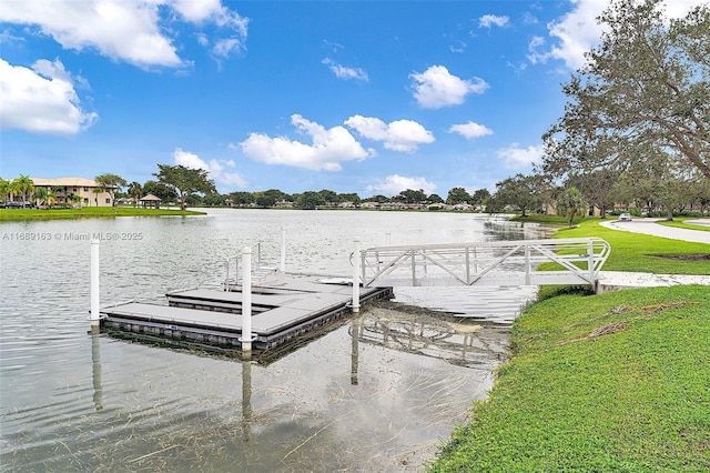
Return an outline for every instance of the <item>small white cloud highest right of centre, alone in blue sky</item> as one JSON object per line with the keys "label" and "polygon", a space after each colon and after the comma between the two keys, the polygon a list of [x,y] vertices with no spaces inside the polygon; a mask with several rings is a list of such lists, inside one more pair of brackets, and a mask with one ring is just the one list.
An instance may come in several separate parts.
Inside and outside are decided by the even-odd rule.
{"label": "small white cloud highest right of centre, alone in blue sky", "polygon": [[423,73],[412,73],[414,97],[425,109],[440,109],[464,103],[469,93],[483,93],[488,84],[480,78],[463,80],[444,66],[432,66]]}

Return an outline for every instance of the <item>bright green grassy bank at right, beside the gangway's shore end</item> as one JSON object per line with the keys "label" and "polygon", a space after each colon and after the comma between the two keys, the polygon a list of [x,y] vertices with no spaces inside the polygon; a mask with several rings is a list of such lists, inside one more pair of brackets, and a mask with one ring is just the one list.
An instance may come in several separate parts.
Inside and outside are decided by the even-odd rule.
{"label": "bright green grassy bank at right, beside the gangway's shore end", "polygon": [[[556,236],[609,241],[605,270],[709,272],[707,260],[657,255],[707,254],[707,244],[598,222]],[[708,286],[531,304],[513,326],[514,356],[488,400],[474,405],[429,471],[710,471],[709,341]]]}

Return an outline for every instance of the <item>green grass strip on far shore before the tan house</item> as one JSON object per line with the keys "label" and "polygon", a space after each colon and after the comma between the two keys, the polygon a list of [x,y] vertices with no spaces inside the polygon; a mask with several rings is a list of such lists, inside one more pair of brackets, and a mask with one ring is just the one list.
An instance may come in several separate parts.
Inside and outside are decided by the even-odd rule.
{"label": "green grass strip on far shore before the tan house", "polygon": [[0,209],[0,221],[53,220],[113,217],[203,215],[204,212],[172,209],[134,209],[132,207],[85,207],[83,209]]}

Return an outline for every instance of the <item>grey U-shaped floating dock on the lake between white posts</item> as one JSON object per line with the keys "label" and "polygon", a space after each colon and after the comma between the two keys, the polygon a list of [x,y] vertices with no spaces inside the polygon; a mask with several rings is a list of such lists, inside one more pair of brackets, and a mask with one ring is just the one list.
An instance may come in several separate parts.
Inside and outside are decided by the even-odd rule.
{"label": "grey U-shaped floating dock on the lake between white posts", "polygon": [[[128,302],[102,308],[111,329],[199,343],[240,346],[241,286],[169,292],[168,305]],[[392,288],[361,288],[361,303],[392,299]],[[278,279],[252,286],[253,344],[267,349],[352,312],[353,286],[345,279]]]}

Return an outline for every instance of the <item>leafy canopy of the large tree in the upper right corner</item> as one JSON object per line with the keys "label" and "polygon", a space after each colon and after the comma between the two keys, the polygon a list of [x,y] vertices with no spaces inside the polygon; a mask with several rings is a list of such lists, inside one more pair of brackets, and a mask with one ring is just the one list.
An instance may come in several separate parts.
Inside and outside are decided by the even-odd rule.
{"label": "leafy canopy of the large tree in the upper right corner", "polygon": [[601,44],[564,92],[564,115],[545,133],[542,169],[645,168],[658,153],[710,178],[710,8],[668,21],[662,0],[615,0],[598,19]]}

